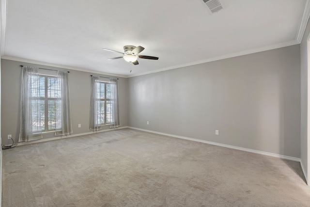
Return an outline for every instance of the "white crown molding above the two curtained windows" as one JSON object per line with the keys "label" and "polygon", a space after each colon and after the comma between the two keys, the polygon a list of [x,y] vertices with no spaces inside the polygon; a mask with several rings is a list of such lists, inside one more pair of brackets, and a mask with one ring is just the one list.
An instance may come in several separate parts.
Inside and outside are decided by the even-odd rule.
{"label": "white crown molding above the two curtained windows", "polygon": [[68,65],[45,63],[45,62],[40,62],[40,61],[34,61],[34,60],[12,57],[12,56],[3,56],[3,57],[1,57],[1,59],[23,62],[23,63],[30,63],[30,64],[41,64],[41,65],[50,66],[50,67],[58,67],[58,68],[70,69],[70,70],[78,70],[78,71],[82,71],[82,72],[95,73],[95,74],[101,74],[101,75],[106,75],[106,76],[115,76],[115,77],[120,77],[120,78],[127,78],[127,76],[119,75],[119,74],[105,73],[105,72],[101,72],[101,71],[97,71],[97,70],[90,70],[90,69],[85,69],[85,68],[72,67],[72,66],[68,66]]}

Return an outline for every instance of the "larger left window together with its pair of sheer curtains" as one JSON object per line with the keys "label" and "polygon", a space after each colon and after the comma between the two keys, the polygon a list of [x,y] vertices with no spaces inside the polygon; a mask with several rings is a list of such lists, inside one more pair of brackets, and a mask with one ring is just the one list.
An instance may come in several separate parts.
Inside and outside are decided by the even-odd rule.
{"label": "larger left window together with its pair of sheer curtains", "polygon": [[72,134],[68,72],[41,75],[36,67],[23,66],[21,78],[19,142]]}

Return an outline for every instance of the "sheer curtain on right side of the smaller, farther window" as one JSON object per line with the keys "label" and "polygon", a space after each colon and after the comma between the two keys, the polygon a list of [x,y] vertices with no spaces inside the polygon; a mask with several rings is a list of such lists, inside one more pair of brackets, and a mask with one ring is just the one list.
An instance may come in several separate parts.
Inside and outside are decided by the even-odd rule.
{"label": "sheer curtain on right side of the smaller, farther window", "polygon": [[117,79],[110,78],[111,84],[111,110],[110,113],[110,128],[116,128],[121,126],[121,119],[119,115],[118,107],[118,82]]}

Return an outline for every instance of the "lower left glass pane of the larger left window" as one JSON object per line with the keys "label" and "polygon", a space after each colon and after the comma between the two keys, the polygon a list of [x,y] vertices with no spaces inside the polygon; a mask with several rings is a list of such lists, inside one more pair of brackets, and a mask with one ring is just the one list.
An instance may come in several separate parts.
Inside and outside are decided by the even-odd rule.
{"label": "lower left glass pane of the larger left window", "polygon": [[32,99],[31,100],[32,109],[32,131],[45,130],[45,101]]}

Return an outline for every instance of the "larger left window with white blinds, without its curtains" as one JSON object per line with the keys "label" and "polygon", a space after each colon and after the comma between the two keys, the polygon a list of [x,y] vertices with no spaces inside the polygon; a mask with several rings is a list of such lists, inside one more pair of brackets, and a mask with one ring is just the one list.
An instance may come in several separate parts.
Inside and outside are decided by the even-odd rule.
{"label": "larger left window with white blinds, without its curtains", "polygon": [[[38,75],[30,77],[33,81],[30,91],[32,105],[32,131],[54,131],[61,126],[56,119],[61,110],[61,80],[52,76]],[[38,79],[38,81],[35,81]],[[59,105],[59,106],[58,106]]]}

